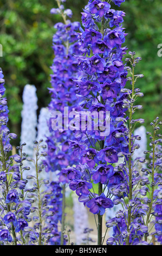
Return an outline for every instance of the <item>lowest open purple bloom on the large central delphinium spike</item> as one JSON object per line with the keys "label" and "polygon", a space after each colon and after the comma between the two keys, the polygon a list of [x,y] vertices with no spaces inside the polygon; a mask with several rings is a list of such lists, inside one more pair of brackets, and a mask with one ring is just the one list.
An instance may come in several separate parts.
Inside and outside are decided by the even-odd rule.
{"label": "lowest open purple bloom on the large central delphinium spike", "polygon": [[105,214],[106,208],[112,208],[114,206],[111,199],[107,198],[104,193],[101,193],[100,196],[92,198],[89,202],[86,203],[86,206],[89,208],[89,211],[93,214]]}

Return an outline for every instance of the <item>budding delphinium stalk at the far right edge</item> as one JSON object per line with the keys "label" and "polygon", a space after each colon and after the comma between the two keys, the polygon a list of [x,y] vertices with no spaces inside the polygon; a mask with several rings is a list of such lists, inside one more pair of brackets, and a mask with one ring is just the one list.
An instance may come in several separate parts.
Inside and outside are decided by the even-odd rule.
{"label": "budding delphinium stalk at the far right edge", "polygon": [[[150,231],[155,225],[155,232],[152,233],[153,237],[162,235],[161,230],[158,230],[158,216],[159,208],[161,205],[161,154],[160,154],[160,145],[162,140],[160,139],[161,134],[158,133],[161,121],[159,117],[153,120],[151,126],[153,127],[153,132],[147,132],[150,135],[151,139],[151,151],[145,151],[145,154],[148,154],[151,158],[151,163],[148,165],[148,169],[143,169],[144,172],[147,172],[147,175],[150,176],[150,186],[148,186],[148,211],[146,214],[146,226],[148,228],[148,234],[145,235],[145,241],[147,242]],[[159,148],[159,149],[158,149]],[[151,224],[153,222],[153,224]],[[159,221],[160,224],[160,221]]]}

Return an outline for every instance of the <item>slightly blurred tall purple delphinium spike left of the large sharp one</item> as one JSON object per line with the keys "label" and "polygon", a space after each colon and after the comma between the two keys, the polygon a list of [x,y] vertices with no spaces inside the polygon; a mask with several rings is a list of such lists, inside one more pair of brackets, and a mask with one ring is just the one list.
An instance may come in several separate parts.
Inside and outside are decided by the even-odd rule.
{"label": "slightly blurred tall purple delphinium spike left of the large sharp one", "polygon": [[[49,111],[51,118],[48,122],[50,136],[47,138],[47,157],[43,161],[46,166],[46,172],[55,172],[56,179],[51,183],[52,190],[59,191],[54,192],[53,196],[49,197],[49,204],[53,204],[55,215],[51,217],[50,223],[54,225],[53,233],[55,237],[49,240],[51,245],[60,245],[60,236],[57,229],[57,224],[61,222],[62,216],[62,198],[61,193],[63,184],[68,183],[64,168],[72,166],[75,161],[73,154],[69,154],[69,138],[73,138],[73,132],[69,129],[64,129],[66,126],[65,118],[69,115],[69,112],[77,111],[77,88],[74,87],[73,80],[77,74],[78,60],[74,57],[74,54],[79,54],[79,44],[77,42],[77,32],[79,31],[80,23],[71,22],[69,17],[72,16],[72,11],[64,10],[62,3],[65,1],[57,1],[58,8],[51,9],[51,14],[60,14],[63,18],[63,23],[58,22],[54,28],[56,32],[53,36],[53,50],[54,60],[51,66],[53,74],[51,75],[51,88],[49,92],[51,94],[51,101],[49,103]],[[68,112],[64,112],[64,108],[68,107]],[[62,114],[61,127],[54,129],[53,124],[55,118],[54,112],[60,112]],[[49,218],[48,218],[49,221]]]}

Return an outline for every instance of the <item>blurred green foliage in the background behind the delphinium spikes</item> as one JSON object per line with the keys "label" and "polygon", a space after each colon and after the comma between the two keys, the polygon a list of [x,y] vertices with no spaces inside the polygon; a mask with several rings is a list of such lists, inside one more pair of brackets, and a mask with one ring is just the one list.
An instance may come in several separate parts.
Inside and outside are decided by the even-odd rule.
{"label": "blurred green foliage in the background behind the delphinium spikes", "polygon": [[[72,9],[73,21],[81,21],[80,13],[87,2],[67,0],[65,7]],[[6,81],[10,130],[18,135],[25,84],[35,84],[39,109],[50,101],[50,65],[54,58],[52,38],[54,24],[61,21],[59,15],[50,14],[54,7],[57,7],[55,0],[0,0],[0,43],[3,46],[0,66]],[[147,130],[150,130],[149,123],[157,115],[162,119],[162,57],[157,54],[158,45],[162,44],[162,2],[126,0],[118,9],[126,13],[124,27],[128,35],[125,45],[142,57],[135,72],[145,76],[138,81],[138,87],[145,95],[139,101],[144,108],[135,114],[135,118],[144,118]]]}

